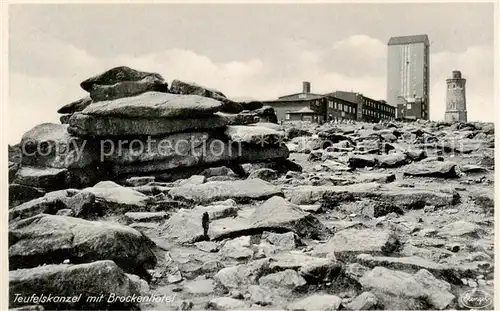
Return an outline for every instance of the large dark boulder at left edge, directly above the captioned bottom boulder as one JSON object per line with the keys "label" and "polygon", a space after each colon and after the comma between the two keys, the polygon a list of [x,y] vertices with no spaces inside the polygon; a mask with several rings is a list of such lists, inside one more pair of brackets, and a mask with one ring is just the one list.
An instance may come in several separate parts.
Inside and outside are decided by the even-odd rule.
{"label": "large dark boulder at left edge, directly above the captioned bottom boulder", "polygon": [[9,225],[9,269],[110,259],[128,273],[148,277],[156,265],[154,242],[130,227],[40,214]]}

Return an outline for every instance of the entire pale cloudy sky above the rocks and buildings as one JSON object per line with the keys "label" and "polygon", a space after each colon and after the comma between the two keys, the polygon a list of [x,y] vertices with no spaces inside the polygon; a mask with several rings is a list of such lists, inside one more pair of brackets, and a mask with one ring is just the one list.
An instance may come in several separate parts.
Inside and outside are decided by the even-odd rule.
{"label": "entire pale cloudy sky above the rocks and buildings", "polygon": [[9,6],[9,142],[86,95],[118,65],[273,99],[354,90],[386,96],[387,41],[427,34],[431,119],[446,78],[467,79],[469,120],[493,121],[493,4],[76,4]]}

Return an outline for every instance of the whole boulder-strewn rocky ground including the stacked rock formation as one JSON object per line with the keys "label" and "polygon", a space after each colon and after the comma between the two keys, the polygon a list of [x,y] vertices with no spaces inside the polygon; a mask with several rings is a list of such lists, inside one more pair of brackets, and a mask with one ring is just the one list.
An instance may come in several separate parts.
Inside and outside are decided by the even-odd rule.
{"label": "whole boulder-strewn rocky ground including the stacked rock formation", "polygon": [[493,124],[279,125],[260,102],[128,67],[81,87],[61,124],[9,146],[11,308],[493,300]]}

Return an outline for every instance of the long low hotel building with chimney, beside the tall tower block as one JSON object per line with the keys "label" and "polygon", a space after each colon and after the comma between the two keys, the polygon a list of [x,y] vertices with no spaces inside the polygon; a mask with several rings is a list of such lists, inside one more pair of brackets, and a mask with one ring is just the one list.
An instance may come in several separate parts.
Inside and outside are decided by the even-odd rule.
{"label": "long low hotel building with chimney, beside the tall tower block", "polygon": [[385,101],[377,101],[354,92],[313,94],[309,82],[303,82],[302,93],[281,96],[263,103],[274,108],[278,122],[299,120],[318,123],[333,120],[379,122],[395,118],[395,108]]}

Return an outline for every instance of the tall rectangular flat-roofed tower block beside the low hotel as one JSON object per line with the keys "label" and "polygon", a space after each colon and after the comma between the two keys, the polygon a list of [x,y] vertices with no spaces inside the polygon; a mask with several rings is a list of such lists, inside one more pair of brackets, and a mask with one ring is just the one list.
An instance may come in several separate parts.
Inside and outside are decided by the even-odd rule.
{"label": "tall rectangular flat-roofed tower block beside the low hotel", "polygon": [[396,119],[429,120],[429,51],[427,35],[392,37],[388,42],[387,103]]}

